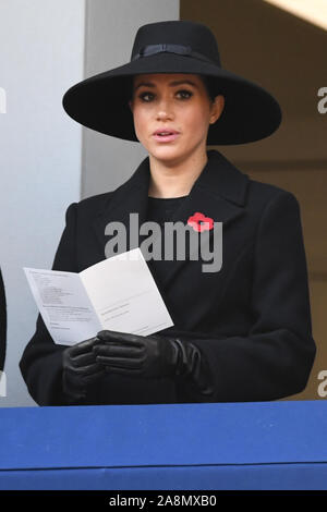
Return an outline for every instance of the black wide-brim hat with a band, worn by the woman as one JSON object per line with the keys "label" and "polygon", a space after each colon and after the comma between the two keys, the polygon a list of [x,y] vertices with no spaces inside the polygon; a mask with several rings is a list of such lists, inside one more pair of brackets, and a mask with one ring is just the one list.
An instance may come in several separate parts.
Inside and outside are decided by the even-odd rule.
{"label": "black wide-brim hat with a band, worn by the woman", "polygon": [[132,77],[136,74],[206,75],[225,96],[225,108],[209,125],[208,145],[244,144],[271,135],[281,122],[277,100],[258,84],[221,68],[210,29],[190,21],[150,23],[138,28],[131,61],[71,87],[63,108],[78,123],[97,132],[138,142],[133,113]]}

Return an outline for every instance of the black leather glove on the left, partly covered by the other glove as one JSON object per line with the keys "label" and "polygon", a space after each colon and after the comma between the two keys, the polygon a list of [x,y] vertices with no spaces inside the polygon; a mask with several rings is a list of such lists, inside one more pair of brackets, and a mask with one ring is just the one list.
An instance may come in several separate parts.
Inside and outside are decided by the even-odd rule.
{"label": "black leather glove on the left, partly covered by the other glove", "polygon": [[70,403],[83,401],[89,387],[106,375],[104,366],[96,362],[93,352],[97,342],[97,338],[90,338],[63,351],[62,389]]}

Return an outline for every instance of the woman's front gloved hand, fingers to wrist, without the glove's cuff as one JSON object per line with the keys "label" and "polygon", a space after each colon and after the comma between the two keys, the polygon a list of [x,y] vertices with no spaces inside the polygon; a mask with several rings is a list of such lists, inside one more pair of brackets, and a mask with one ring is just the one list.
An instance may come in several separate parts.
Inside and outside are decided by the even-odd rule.
{"label": "woman's front gloved hand, fingers to wrist, without the glove's cuff", "polygon": [[172,338],[102,330],[93,348],[107,371],[144,378],[178,375],[180,345]]}

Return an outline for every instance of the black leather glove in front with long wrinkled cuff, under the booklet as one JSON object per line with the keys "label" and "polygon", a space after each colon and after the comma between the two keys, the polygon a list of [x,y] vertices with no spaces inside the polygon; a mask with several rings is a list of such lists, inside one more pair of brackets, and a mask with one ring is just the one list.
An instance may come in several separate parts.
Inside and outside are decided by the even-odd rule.
{"label": "black leather glove in front with long wrinkled cuff, under the booklet", "polygon": [[180,338],[147,337],[104,330],[93,348],[107,371],[143,378],[191,377],[205,394],[213,392],[199,350]]}

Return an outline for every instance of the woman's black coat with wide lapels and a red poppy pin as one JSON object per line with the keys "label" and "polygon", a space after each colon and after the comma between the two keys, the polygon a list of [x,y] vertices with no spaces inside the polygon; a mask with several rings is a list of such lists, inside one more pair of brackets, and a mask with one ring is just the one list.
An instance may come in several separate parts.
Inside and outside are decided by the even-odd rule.
{"label": "woman's black coat with wide lapels and a red poppy pin", "polygon": [[[110,221],[146,220],[149,161],[113,192],[70,205],[53,269],[80,272],[105,259]],[[300,209],[290,192],[251,180],[219,151],[208,162],[172,221],[196,211],[222,222],[222,267],[203,272],[202,260],[153,264],[154,278],[174,326],[160,334],[192,340],[206,357],[215,392],[193,383],[108,375],[87,403],[141,404],[276,400],[302,391],[315,357]],[[213,232],[213,231],[211,231]],[[128,249],[133,248],[128,246]],[[62,345],[40,317],[21,359],[39,404],[64,404]]]}

